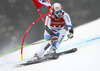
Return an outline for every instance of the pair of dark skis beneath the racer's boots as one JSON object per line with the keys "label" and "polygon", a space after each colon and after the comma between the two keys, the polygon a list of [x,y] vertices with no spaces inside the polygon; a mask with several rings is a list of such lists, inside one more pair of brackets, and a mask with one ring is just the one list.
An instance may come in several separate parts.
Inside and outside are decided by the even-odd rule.
{"label": "pair of dark skis beneath the racer's boots", "polygon": [[70,50],[63,51],[63,52],[60,52],[60,53],[46,54],[43,57],[41,57],[40,59],[38,59],[38,60],[27,61],[27,62],[21,63],[19,65],[20,66],[26,66],[26,65],[31,65],[31,64],[45,62],[45,61],[55,60],[55,59],[58,59],[60,55],[69,54],[69,53],[73,53],[73,52],[76,52],[76,51],[77,51],[77,48],[72,48]]}

